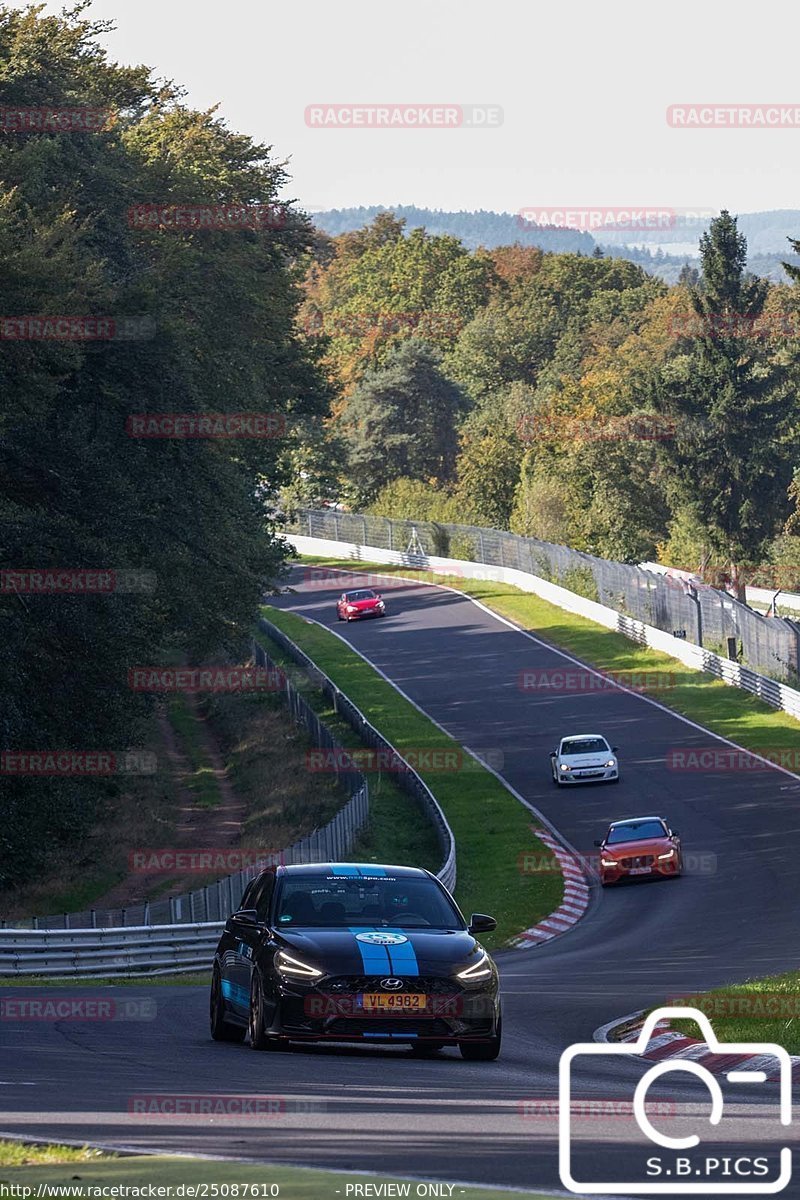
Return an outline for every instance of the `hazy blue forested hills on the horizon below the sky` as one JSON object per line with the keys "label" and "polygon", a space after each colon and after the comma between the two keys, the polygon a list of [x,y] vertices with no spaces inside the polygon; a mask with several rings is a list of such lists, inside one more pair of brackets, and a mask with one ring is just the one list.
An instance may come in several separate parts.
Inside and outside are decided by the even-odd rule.
{"label": "hazy blue forested hills on the horizon below the sky", "polygon": [[[627,258],[645,271],[675,283],[686,262],[699,254],[700,235],[708,229],[710,217],[679,218],[669,229],[603,230],[597,240],[577,229],[537,228],[523,222],[512,212],[492,212],[479,209],[470,212],[445,212],[441,209],[417,209],[413,204],[393,208],[371,205],[357,209],[327,209],[313,212],[314,223],[331,236],[349,233],[369,224],[379,212],[395,212],[403,217],[407,229],[425,227],[432,234],[451,234],[469,250],[485,246],[540,246],[554,253],[591,254],[597,242],[603,253]],[[800,239],[800,209],[774,209],[765,212],[738,214],[739,228],[747,238],[747,265],[756,275],[774,282],[786,282],[782,263],[800,266],[800,257],[790,253],[789,238]],[[633,245],[628,245],[632,242]]]}

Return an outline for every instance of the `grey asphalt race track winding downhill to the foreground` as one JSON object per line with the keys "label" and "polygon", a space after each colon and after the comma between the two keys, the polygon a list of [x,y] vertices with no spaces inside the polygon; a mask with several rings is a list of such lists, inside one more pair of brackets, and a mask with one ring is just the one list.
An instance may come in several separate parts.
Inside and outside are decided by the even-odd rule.
{"label": "grey asphalt race track winding downhill to the foreground", "polygon": [[[567,1045],[591,1042],[599,1026],[670,996],[796,966],[800,781],[772,768],[669,769],[673,751],[715,740],[621,690],[521,689],[523,671],[575,671],[573,664],[456,593],[395,581],[384,592],[384,619],[345,625],[335,613],[341,587],[311,582],[302,568],[290,582],[277,606],[335,628],[455,738],[492,751],[493,762],[501,755],[503,776],[578,851],[591,853],[612,818],[661,814],[680,832],[692,869],[680,880],[595,889],[572,931],[500,953],[505,1039],[495,1063],[467,1063],[453,1051],[417,1061],[399,1048],[255,1055],[209,1039],[201,989],[108,989],[104,995],[155,997],[155,1019],[0,1021],[0,1129],[558,1190],[554,1102]],[[575,731],[602,732],[620,748],[618,786],[552,784],[549,750]],[[13,995],[35,991],[14,988]],[[59,989],[90,991],[89,984]],[[664,1171],[675,1157],[648,1145],[625,1109],[643,1070],[634,1060],[593,1057],[577,1066],[578,1178],[636,1181],[652,1153],[663,1156]],[[146,1114],[149,1104],[163,1109],[148,1098],[176,1093],[278,1100],[270,1117],[251,1121]],[[728,1088],[718,1130],[706,1123],[706,1094],[687,1076],[668,1076],[651,1091],[664,1129],[702,1136],[693,1154],[733,1162],[790,1144],[777,1123],[775,1085]],[[800,1184],[782,1194],[800,1196]]]}

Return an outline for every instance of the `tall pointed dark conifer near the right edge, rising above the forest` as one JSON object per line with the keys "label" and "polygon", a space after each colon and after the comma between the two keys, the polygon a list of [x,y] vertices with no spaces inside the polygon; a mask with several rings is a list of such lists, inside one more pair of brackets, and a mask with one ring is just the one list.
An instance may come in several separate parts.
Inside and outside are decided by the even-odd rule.
{"label": "tall pointed dark conifer near the right edge, rising above the forest", "polygon": [[691,336],[657,373],[652,401],[675,425],[658,444],[673,508],[705,530],[711,553],[724,553],[744,598],[741,564],[763,556],[786,515],[794,398],[758,335],[769,284],[746,274],[747,242],[728,212],[700,239],[700,259]]}

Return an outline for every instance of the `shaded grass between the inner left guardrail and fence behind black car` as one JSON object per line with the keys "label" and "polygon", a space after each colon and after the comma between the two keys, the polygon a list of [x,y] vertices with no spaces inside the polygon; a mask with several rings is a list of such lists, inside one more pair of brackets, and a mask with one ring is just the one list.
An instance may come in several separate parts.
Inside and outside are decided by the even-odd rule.
{"label": "shaded grass between the inner left guardrail and fence behind black car", "polygon": [[[342,720],[302,667],[261,630],[255,632],[255,637],[342,745],[353,750],[363,749],[357,733]],[[414,798],[398,787],[386,772],[369,770],[365,764],[362,774],[369,782],[369,822],[353,848],[353,858],[365,863],[416,863],[428,871],[438,871],[441,866],[439,840],[433,823],[421,814]]]}

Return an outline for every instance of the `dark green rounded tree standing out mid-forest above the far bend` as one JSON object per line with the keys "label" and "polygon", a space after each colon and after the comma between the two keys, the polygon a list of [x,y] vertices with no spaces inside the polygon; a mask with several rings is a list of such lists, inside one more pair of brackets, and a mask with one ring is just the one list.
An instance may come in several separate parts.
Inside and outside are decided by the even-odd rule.
{"label": "dark green rounded tree standing out mid-forest above the far bend", "polygon": [[465,401],[440,370],[441,355],[420,338],[397,346],[349,397],[341,428],[356,503],[395,479],[445,484],[453,476],[456,426]]}

